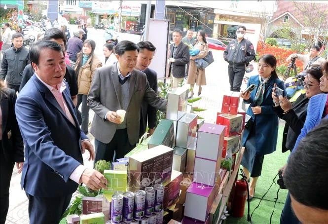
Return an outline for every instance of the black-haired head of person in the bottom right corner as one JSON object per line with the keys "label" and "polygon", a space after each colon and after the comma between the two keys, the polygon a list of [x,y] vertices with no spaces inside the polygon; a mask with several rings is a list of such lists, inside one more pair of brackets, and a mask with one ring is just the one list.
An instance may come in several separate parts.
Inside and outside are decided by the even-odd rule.
{"label": "black-haired head of person in the bottom right corner", "polygon": [[299,142],[285,169],[284,183],[299,223],[328,223],[327,145],[328,119],[323,119]]}

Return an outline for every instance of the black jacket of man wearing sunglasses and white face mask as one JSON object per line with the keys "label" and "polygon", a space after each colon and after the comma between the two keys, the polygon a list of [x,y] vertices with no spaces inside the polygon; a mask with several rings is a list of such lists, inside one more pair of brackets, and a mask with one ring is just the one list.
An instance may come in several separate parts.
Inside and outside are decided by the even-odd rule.
{"label": "black jacket of man wearing sunglasses and white face mask", "polygon": [[223,58],[226,62],[229,63],[229,66],[231,67],[245,67],[245,62],[255,60],[254,46],[251,41],[245,38],[242,39],[242,41],[239,43],[237,39],[233,39],[229,42],[228,46],[224,50]]}

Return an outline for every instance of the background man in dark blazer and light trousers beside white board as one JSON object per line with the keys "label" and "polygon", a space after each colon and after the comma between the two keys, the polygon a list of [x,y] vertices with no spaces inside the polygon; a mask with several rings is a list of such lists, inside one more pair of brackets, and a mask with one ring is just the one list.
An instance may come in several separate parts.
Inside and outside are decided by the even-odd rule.
{"label": "background man in dark blazer and light trousers beside white board", "polygon": [[170,45],[169,77],[171,88],[177,88],[185,77],[185,65],[189,63],[189,47],[182,42],[182,31],[176,29],[172,33],[173,42]]}

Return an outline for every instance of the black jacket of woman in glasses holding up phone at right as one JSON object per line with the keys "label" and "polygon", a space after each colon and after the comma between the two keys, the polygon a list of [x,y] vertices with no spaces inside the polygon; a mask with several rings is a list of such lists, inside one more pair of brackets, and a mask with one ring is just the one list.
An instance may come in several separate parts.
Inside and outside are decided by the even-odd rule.
{"label": "black jacket of woman in glasses holding up phone at right", "polygon": [[292,104],[292,110],[286,114],[284,114],[280,106],[273,107],[277,115],[286,121],[283,133],[282,152],[288,150],[292,151],[294,148],[297,137],[304,126],[308,103],[309,99],[305,97],[305,94],[302,94]]}

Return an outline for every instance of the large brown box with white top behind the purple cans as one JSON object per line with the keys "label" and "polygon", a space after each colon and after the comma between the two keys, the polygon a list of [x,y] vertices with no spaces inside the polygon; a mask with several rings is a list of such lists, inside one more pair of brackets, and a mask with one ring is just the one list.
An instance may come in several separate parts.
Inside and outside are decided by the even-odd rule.
{"label": "large brown box with white top behind the purple cans", "polygon": [[173,149],[160,145],[129,157],[130,191],[144,189],[171,178]]}

